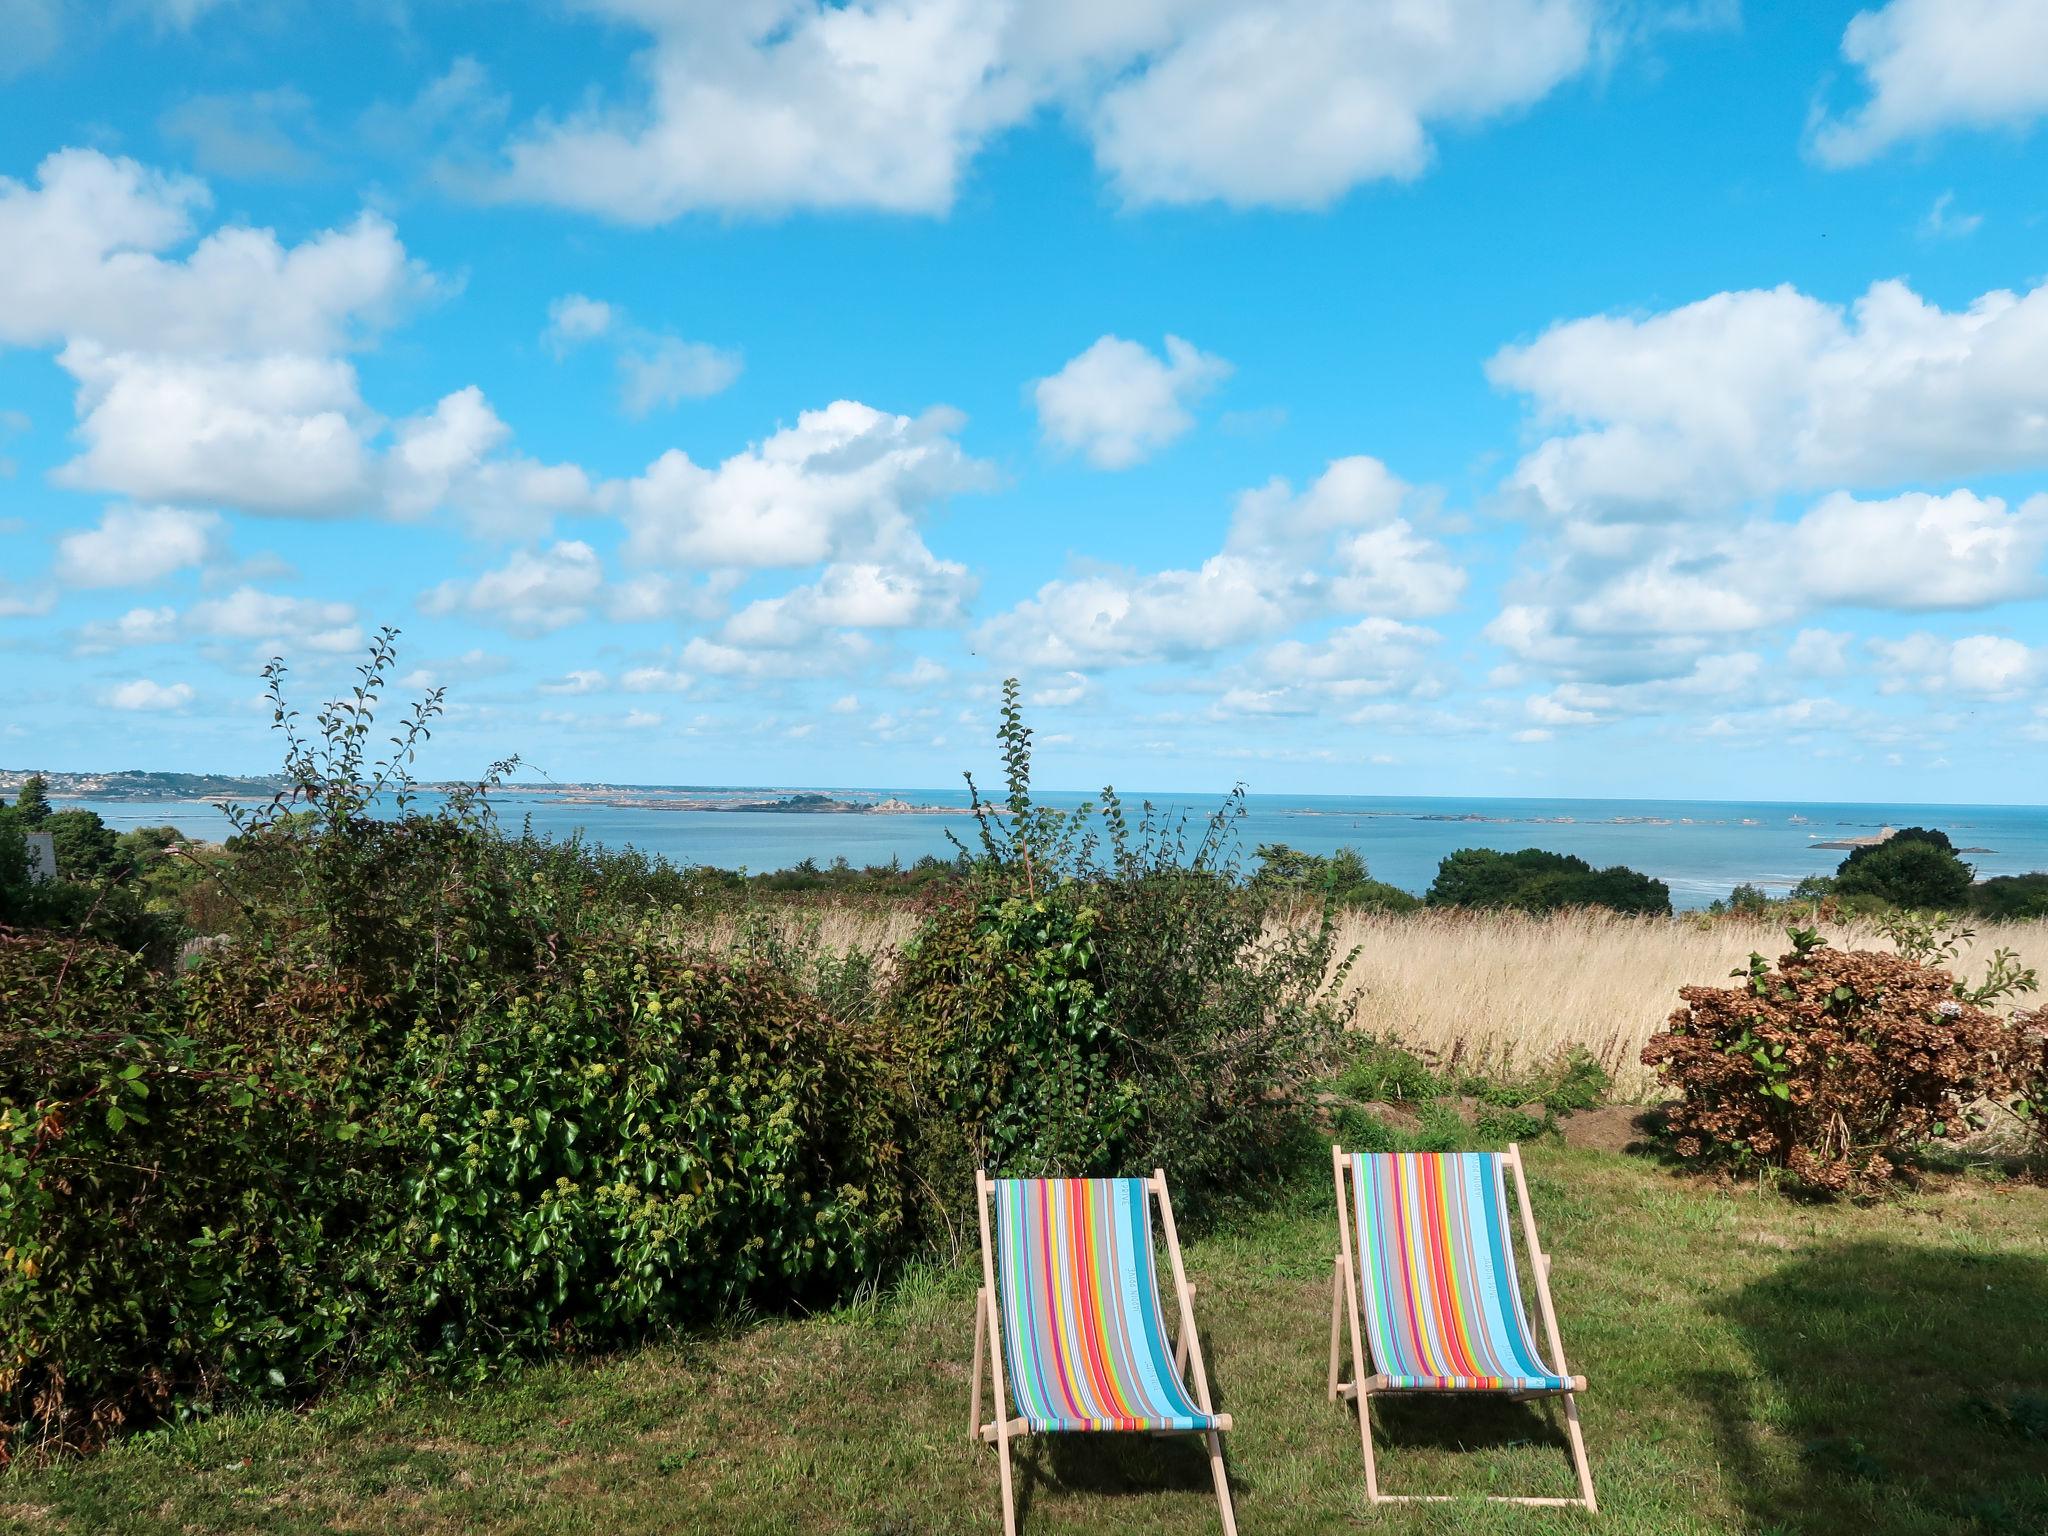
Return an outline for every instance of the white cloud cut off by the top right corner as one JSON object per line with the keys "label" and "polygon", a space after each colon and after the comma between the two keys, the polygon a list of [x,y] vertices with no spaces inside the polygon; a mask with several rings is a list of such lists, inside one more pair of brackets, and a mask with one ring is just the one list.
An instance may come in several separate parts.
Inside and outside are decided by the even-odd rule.
{"label": "white cloud cut off by the top right corner", "polygon": [[1870,90],[1815,125],[1815,154],[1851,166],[1948,129],[2019,129],[2048,115],[2048,6],[2040,0],[1890,0],[1858,12],[1841,57]]}

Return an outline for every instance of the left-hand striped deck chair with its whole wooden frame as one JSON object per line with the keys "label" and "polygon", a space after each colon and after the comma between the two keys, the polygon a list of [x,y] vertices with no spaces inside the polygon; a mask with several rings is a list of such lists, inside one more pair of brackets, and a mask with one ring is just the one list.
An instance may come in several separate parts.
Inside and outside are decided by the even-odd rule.
{"label": "left-hand striped deck chair with its whole wooden frame", "polygon": [[[1180,1341],[1171,1346],[1159,1311],[1153,1198],[1180,1300]],[[1194,1286],[1180,1262],[1165,1174],[1153,1169],[1149,1180],[991,1180],[981,1171],[975,1174],[975,1210],[981,1217],[981,1290],[975,1296],[967,1434],[997,1450],[1004,1536],[1016,1536],[1018,1528],[1010,1489],[1012,1436],[1092,1430],[1204,1436],[1223,1530],[1237,1536],[1221,1440],[1231,1415],[1210,1407],[1202,1339],[1194,1331]],[[995,1405],[987,1421],[981,1417],[983,1360]],[[1184,1380],[1190,1366],[1192,1393]],[[1016,1417],[1004,1415],[1010,1401]]]}

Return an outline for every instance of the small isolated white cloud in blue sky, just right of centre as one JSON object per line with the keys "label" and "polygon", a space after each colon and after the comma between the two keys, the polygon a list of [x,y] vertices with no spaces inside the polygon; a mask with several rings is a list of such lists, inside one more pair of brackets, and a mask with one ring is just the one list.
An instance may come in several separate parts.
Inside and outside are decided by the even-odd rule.
{"label": "small isolated white cloud in blue sky, just right of centre", "polygon": [[1188,406],[1227,379],[1231,365],[1165,338],[1165,356],[1102,336],[1032,385],[1047,442],[1083,453],[1098,469],[1128,469],[1194,426]]}

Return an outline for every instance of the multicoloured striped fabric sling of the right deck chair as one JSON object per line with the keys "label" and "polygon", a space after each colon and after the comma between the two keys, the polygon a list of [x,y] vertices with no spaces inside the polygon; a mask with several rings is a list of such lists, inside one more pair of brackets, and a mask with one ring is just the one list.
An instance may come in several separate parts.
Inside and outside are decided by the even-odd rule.
{"label": "multicoloured striped fabric sling of the right deck chair", "polygon": [[1372,1364],[1399,1391],[1544,1393],[1507,1241],[1499,1153],[1354,1153],[1352,1202]]}

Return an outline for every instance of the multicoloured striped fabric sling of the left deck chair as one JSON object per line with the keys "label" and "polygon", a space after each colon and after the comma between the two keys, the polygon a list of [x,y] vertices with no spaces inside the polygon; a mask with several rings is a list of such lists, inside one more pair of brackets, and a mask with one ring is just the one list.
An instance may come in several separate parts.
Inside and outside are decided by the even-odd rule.
{"label": "multicoloured striped fabric sling of the left deck chair", "polygon": [[1032,1432],[1208,1430],[1159,1315],[1145,1180],[995,1180],[1010,1393]]}

